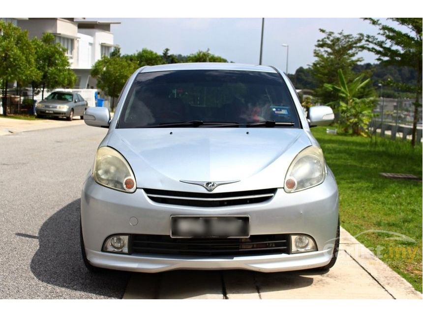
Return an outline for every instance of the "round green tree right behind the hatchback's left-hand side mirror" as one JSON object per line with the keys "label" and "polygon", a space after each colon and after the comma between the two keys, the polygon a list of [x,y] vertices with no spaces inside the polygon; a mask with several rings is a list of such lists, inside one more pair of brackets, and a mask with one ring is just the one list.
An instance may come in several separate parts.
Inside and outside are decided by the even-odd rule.
{"label": "round green tree right behind the hatchback's left-hand side mirror", "polygon": [[112,97],[111,110],[115,109],[115,98],[138,65],[126,58],[103,56],[91,69],[91,76],[97,79],[97,86]]}

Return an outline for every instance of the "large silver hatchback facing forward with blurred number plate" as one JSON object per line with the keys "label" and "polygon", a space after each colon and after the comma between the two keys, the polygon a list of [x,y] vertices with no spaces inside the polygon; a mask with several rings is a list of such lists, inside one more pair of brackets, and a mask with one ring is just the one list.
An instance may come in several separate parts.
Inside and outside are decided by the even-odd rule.
{"label": "large silver hatchback facing forward with blurred number plate", "polygon": [[270,66],[145,66],[124,86],[81,197],[87,268],[329,269],[338,190],[294,86]]}

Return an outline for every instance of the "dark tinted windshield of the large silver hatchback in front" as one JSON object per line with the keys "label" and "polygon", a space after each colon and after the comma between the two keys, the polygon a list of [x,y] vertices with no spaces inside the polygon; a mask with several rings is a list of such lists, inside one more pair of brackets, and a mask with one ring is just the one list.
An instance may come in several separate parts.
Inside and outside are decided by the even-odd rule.
{"label": "dark tinted windshield of the large silver hatchback in front", "polygon": [[192,120],[241,124],[272,120],[300,127],[288,87],[277,73],[179,70],[138,74],[118,128]]}

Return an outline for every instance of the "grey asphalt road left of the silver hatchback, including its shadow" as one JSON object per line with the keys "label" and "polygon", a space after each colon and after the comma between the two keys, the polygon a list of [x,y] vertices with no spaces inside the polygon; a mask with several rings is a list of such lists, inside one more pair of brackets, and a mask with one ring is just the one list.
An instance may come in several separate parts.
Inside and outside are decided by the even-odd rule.
{"label": "grey asphalt road left of the silver hatchback, including its shadow", "polygon": [[0,298],[121,298],[127,273],[91,275],[79,246],[81,187],[106,129],[0,137]]}

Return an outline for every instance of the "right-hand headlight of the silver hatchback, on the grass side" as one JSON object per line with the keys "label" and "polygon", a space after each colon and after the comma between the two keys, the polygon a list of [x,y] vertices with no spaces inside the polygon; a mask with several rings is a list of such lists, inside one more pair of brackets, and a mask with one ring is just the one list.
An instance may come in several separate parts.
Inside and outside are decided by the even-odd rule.
{"label": "right-hand headlight of the silver hatchback, on the grass side", "polygon": [[322,149],[309,146],[292,161],[285,176],[283,189],[287,193],[298,192],[323,183],[325,177],[326,165]]}

